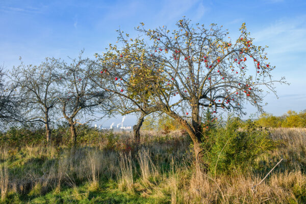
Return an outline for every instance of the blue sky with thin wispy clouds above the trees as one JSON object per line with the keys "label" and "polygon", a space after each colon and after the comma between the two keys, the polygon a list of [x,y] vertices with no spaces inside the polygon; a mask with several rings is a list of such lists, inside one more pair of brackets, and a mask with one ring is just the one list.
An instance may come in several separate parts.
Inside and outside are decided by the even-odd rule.
{"label": "blue sky with thin wispy clouds above the trees", "polygon": [[[218,23],[231,36],[246,22],[257,45],[268,45],[268,57],[275,79],[285,76],[290,86],[277,86],[279,99],[268,95],[265,111],[282,115],[288,110],[306,109],[306,1],[6,1],[0,0],[0,64],[6,69],[38,64],[45,57],[67,59],[102,53],[117,38],[120,28],[131,36],[134,27],[159,25],[174,28],[182,16],[192,22]],[[254,113],[249,109],[249,113]],[[110,125],[121,118],[102,120]],[[127,116],[126,125],[135,122]]]}

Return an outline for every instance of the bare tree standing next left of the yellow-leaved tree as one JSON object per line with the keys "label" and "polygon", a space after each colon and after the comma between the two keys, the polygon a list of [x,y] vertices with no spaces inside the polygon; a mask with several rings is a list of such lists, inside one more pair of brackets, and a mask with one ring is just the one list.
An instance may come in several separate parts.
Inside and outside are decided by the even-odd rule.
{"label": "bare tree standing next left of the yellow-leaved tree", "polygon": [[[78,59],[73,59],[70,65],[62,63],[61,87],[58,89],[58,99],[63,117],[70,127],[71,141],[77,142],[76,125],[82,125],[91,119],[96,111],[107,113],[109,95],[106,91],[96,88],[90,80],[97,61],[89,58],[82,59],[80,54]],[[81,123],[81,119],[84,120]]]}

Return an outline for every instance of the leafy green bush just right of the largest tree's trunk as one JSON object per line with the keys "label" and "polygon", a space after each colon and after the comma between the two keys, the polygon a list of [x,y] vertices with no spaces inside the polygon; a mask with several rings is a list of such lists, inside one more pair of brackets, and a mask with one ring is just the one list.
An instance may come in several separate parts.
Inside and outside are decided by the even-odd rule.
{"label": "leafy green bush just right of the largest tree's trunk", "polygon": [[265,130],[257,130],[252,121],[229,118],[206,133],[203,160],[212,174],[244,171],[254,167],[254,160],[276,146]]}

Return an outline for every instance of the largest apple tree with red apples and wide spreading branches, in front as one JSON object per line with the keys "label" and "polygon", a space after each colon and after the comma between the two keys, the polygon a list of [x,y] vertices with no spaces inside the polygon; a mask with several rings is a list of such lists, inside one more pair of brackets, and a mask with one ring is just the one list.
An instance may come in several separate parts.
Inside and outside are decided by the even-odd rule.
{"label": "largest apple tree with red apples and wide spreading branches, in front", "polygon": [[[119,39],[124,46],[120,54],[116,53],[115,69],[126,73],[126,79],[135,75],[130,67],[145,74],[140,90],[147,92],[149,100],[143,100],[143,106],[158,108],[184,126],[193,141],[196,171],[200,172],[200,144],[205,134],[201,125],[203,110],[209,107],[214,117],[222,111],[241,115],[249,103],[262,111],[262,87],[276,93],[274,83],[284,83],[284,78],[272,80],[275,67],[267,63],[265,49],[253,44],[244,23],[241,35],[234,41],[216,24],[206,29],[184,18],[176,27],[172,32],[166,26],[147,30],[141,23],[136,31],[145,34],[148,43],[139,38]],[[128,41],[138,44],[127,46]],[[135,47],[142,50],[142,55],[131,59]],[[131,65],[126,66],[124,59]],[[121,87],[126,85],[123,82]],[[123,91],[133,94],[127,89]]]}

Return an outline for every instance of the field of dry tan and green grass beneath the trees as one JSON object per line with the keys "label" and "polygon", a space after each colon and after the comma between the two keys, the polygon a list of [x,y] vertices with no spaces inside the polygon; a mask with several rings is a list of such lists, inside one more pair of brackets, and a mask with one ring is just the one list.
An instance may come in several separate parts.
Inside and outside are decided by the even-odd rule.
{"label": "field of dry tan and green grass beneath the trees", "polygon": [[306,203],[306,130],[270,132],[278,146],[257,168],[197,177],[181,132],[143,131],[137,146],[118,133],[79,147],[1,147],[1,203]]}

